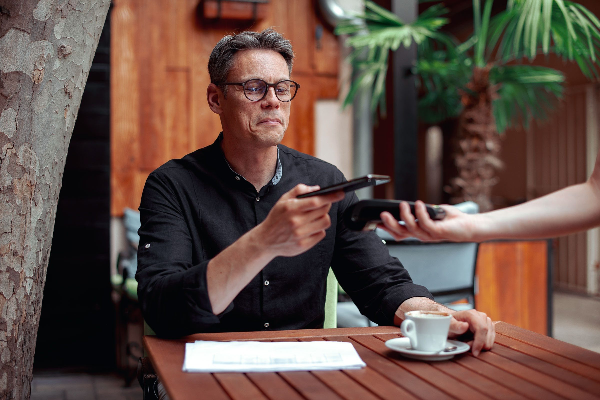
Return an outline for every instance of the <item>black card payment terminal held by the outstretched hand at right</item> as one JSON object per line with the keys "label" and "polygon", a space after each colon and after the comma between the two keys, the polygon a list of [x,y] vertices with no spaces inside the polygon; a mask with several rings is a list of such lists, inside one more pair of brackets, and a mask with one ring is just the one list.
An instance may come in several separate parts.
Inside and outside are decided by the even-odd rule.
{"label": "black card payment terminal held by the outstretched hand at right", "polygon": [[[415,203],[412,201],[406,202],[409,203],[412,215],[416,216]],[[402,203],[402,200],[374,199],[358,201],[346,211],[344,222],[351,230],[373,230],[382,222],[380,215],[384,211],[388,211],[394,218],[401,221],[400,203]],[[446,216],[446,212],[440,206],[425,204],[425,209],[427,209],[431,219],[443,219]]]}

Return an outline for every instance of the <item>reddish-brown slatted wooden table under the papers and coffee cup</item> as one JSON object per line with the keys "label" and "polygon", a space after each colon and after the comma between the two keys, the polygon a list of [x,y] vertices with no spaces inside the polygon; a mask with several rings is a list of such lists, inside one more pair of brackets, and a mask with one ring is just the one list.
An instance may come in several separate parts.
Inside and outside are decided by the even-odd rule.
{"label": "reddish-brown slatted wooden table under the papers and coffee cup", "polygon": [[[600,399],[600,354],[507,323],[496,324],[492,351],[443,362],[401,357],[384,345],[392,326],[204,333],[179,340],[144,336],[172,400],[185,399]],[[182,372],[194,340],[351,342],[363,369],[202,374]]]}

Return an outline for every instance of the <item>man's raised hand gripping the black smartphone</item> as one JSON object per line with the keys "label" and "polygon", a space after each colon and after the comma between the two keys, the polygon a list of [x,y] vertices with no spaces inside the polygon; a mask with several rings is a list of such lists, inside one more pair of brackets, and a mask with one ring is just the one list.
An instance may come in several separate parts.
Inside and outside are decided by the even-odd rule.
{"label": "man's raised hand gripping the black smartphone", "polygon": [[281,196],[265,221],[256,227],[260,243],[274,257],[301,254],[325,237],[325,230],[331,226],[331,204],[344,199],[345,193],[296,199],[316,190],[318,186],[296,185]]}

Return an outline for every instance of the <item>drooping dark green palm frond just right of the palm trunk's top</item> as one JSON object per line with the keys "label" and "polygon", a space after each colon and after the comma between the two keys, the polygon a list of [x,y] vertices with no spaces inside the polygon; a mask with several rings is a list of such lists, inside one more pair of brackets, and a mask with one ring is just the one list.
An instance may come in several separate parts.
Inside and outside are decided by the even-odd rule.
{"label": "drooping dark green palm frond just right of the palm trunk's top", "polygon": [[530,119],[545,119],[562,98],[565,76],[553,68],[534,65],[507,65],[490,71],[491,83],[499,85],[493,102],[499,133]]}

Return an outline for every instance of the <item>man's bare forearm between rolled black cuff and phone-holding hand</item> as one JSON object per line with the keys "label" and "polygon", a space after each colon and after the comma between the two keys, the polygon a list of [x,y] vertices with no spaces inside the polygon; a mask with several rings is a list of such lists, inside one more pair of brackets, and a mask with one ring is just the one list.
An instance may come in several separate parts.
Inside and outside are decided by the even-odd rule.
{"label": "man's bare forearm between rolled black cuff and phone-holding hand", "polygon": [[208,263],[206,281],[212,312],[220,314],[275,255],[257,240],[256,228],[248,231]]}

